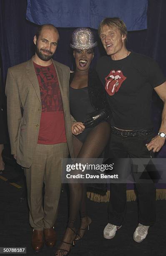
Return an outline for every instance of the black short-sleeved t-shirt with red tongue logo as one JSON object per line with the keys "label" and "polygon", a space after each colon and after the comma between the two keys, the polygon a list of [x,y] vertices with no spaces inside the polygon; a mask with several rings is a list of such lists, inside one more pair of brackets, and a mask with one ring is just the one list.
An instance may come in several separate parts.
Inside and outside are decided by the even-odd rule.
{"label": "black short-sleeved t-shirt with red tongue logo", "polygon": [[112,125],[126,130],[152,128],[153,88],[166,81],[156,61],[134,52],[121,60],[103,56],[96,70],[107,92]]}

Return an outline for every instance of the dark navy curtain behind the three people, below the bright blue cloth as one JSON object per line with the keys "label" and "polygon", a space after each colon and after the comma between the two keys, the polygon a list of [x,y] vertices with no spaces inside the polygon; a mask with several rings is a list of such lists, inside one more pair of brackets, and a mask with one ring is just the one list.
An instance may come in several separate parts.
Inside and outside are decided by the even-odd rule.
{"label": "dark navy curtain behind the three people, below the bright blue cloth", "polygon": [[[93,1],[96,2],[96,1]],[[102,1],[103,2],[103,1]],[[124,1],[123,1],[124,2]],[[140,3],[140,1],[138,1]],[[27,61],[34,54],[33,36],[37,25],[26,20],[26,0],[1,0],[0,1],[0,53],[3,69],[3,86],[8,67],[12,67],[23,61]],[[166,75],[166,1],[148,0],[148,29],[131,31],[128,33],[128,49],[146,54],[158,61]],[[73,52],[70,49],[70,36],[74,28],[58,28],[60,42],[54,58],[73,69]],[[96,47],[96,59],[105,54],[103,46],[98,39],[97,31],[93,30],[98,40]],[[155,130],[161,123],[161,111],[163,103],[155,96],[153,99],[153,120]],[[163,146],[158,157],[166,156],[166,146]]]}

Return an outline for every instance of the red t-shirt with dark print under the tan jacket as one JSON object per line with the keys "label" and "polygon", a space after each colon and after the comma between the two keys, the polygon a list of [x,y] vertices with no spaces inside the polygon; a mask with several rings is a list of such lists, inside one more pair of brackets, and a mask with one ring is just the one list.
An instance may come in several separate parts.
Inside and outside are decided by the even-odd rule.
{"label": "red t-shirt with dark print under the tan jacket", "polygon": [[47,67],[34,63],[40,86],[42,113],[38,144],[58,144],[66,142],[63,103],[58,77],[53,63]]}

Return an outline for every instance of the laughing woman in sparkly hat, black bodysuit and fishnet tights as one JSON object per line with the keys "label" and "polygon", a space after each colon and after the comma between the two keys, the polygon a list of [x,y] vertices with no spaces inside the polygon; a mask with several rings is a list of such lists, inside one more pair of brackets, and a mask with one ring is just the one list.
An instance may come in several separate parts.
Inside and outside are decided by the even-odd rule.
{"label": "laughing woman in sparkly hat, black bodysuit and fishnet tights", "polygon": [[[70,74],[70,113],[77,121],[72,125],[72,132],[75,135],[74,154],[78,159],[98,158],[110,136],[108,123],[110,110],[106,102],[105,90],[96,72],[90,70],[94,56],[93,48],[96,45],[91,29],[77,28],[73,31],[70,46],[74,49],[76,70]],[[71,182],[68,185],[69,220],[56,256],[68,255],[73,242],[80,240],[91,224],[91,218],[86,214],[86,184]],[[81,221],[80,228],[76,232],[75,220],[79,211]]]}

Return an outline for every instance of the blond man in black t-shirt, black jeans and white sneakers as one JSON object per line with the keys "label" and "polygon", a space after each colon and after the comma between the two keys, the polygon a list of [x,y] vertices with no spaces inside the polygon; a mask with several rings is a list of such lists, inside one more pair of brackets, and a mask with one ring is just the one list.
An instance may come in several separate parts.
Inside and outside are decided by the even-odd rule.
{"label": "blond man in black t-shirt, black jeans and white sneakers", "polygon": [[[126,49],[127,29],[119,18],[105,18],[98,29],[108,56],[98,60],[97,72],[112,110],[110,156],[149,158],[166,138],[166,78],[151,58]],[[151,100],[153,89],[164,102],[161,127],[153,134]],[[153,182],[136,183],[139,221],[133,239],[140,243],[156,220],[156,190]],[[108,224],[104,238],[121,228],[126,212],[126,184],[111,184]]]}

